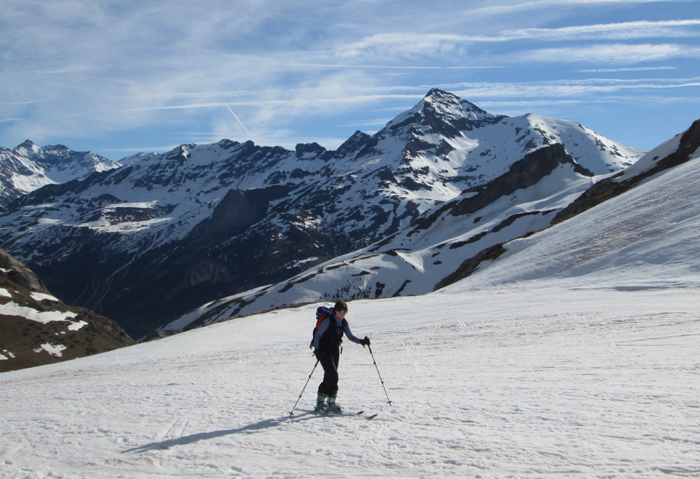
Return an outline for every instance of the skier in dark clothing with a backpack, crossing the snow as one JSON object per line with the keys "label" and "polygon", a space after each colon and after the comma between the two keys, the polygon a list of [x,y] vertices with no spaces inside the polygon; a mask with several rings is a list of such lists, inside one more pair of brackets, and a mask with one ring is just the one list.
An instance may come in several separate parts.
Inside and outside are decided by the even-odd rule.
{"label": "skier in dark clothing with a backpack, crossing the snow", "polygon": [[338,396],[338,362],[340,361],[340,343],[343,342],[343,334],[353,343],[369,346],[367,336],[358,339],[350,331],[345,315],[348,314],[348,305],[343,300],[338,300],[331,313],[321,322],[314,336],[314,355],[323,367],[323,381],[318,386],[316,399],[316,411],[340,413],[342,409],[336,402]]}

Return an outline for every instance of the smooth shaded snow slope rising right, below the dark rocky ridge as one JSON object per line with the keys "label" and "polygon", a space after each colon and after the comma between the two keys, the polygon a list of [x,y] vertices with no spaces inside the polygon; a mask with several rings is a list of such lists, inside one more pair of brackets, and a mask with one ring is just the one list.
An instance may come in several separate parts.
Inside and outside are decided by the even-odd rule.
{"label": "smooth shaded snow slope rising right, below the dark rocky ridge", "polygon": [[[677,139],[672,143],[678,147]],[[669,143],[661,148],[666,155],[675,151]],[[508,243],[497,261],[458,287],[528,287],[535,280],[620,290],[699,286],[700,265],[686,260],[700,258],[700,148],[690,153],[687,163],[572,220]],[[659,158],[656,151],[648,156],[638,173]]]}

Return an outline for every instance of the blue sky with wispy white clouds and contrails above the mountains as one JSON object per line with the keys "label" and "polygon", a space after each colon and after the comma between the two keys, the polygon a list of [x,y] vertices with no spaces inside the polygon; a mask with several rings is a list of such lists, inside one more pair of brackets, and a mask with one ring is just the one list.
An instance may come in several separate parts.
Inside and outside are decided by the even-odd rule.
{"label": "blue sky with wispy white clouds and contrails above the mountains", "polygon": [[651,149],[700,118],[700,0],[4,0],[0,146],[337,148],[432,87]]}

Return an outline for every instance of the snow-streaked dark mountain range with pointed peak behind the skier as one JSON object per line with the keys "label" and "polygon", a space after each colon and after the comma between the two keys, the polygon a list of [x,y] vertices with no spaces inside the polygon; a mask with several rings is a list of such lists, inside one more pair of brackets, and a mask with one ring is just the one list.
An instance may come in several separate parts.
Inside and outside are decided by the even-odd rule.
{"label": "snow-streaked dark mountain range with pointed peak behind the skier", "polygon": [[143,337],[175,320],[432,291],[645,153],[433,89],[336,150],[222,140],[48,184],[5,206],[0,242],[65,302]]}

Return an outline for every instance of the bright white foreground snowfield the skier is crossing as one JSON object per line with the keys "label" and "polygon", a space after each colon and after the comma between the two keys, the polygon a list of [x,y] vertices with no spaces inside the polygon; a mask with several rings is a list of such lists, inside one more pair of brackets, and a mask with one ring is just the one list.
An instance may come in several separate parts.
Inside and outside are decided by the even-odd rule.
{"label": "bright white foreground snowfield the skier is crossing", "polygon": [[492,288],[350,304],[309,411],[306,306],[0,374],[0,477],[698,477],[694,288]]}

